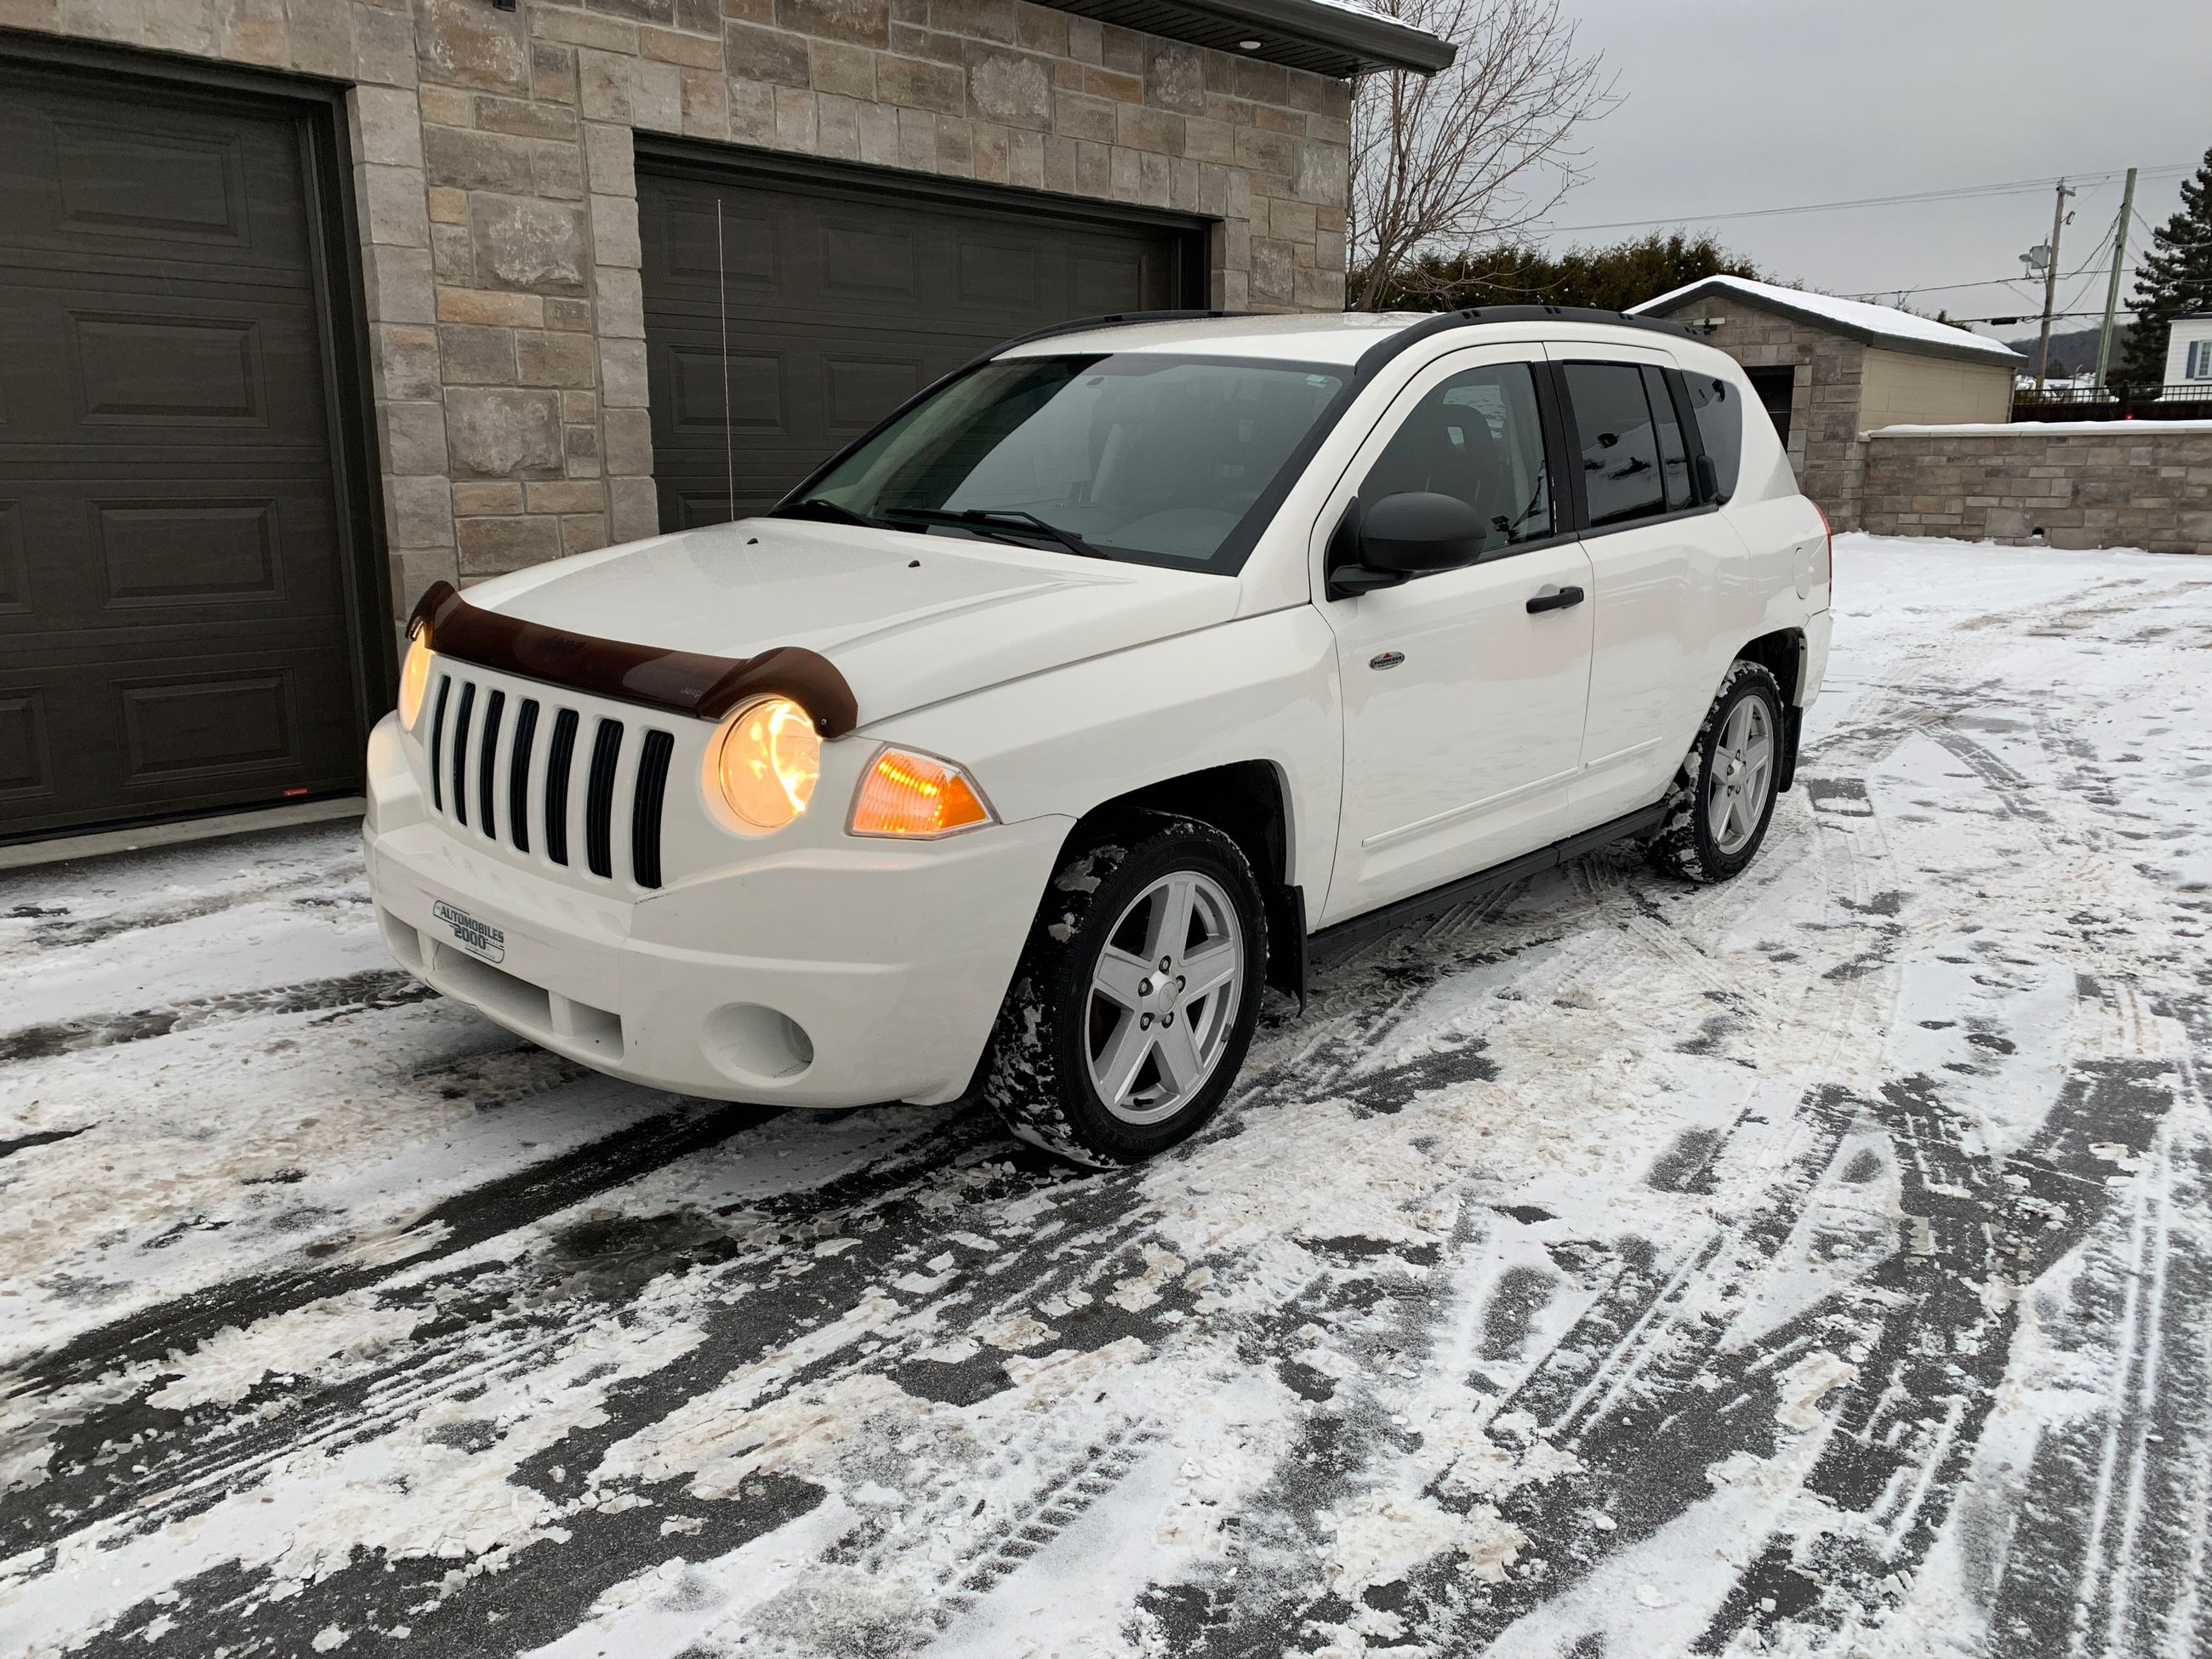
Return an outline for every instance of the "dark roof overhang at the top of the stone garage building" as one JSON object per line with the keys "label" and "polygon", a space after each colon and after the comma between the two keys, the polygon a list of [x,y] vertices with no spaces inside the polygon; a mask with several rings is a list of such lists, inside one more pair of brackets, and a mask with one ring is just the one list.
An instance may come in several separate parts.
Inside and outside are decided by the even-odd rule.
{"label": "dark roof overhang at the top of the stone garage building", "polygon": [[[1378,69],[1433,75],[1458,49],[1427,29],[1347,0],[1051,0],[1060,11],[1148,35],[1188,40],[1232,58],[1310,69],[1347,80]],[[1245,40],[1259,46],[1245,49]]]}

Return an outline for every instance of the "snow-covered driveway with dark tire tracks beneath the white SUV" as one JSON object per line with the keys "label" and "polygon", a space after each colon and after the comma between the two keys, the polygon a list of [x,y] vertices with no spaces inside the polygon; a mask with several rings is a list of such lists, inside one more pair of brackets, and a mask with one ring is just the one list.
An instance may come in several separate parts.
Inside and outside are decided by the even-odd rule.
{"label": "snow-covered driveway with dark tire tracks beneath the white SUV", "polygon": [[2205,1652],[2212,562],[1836,564],[1745,878],[1126,1175],[518,1046],[341,827],[0,878],[0,1652]]}

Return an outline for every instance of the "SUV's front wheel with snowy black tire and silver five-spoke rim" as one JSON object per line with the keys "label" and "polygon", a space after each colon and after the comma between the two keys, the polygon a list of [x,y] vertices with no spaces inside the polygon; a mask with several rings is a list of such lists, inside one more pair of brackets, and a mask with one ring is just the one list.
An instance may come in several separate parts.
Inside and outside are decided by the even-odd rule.
{"label": "SUV's front wheel with snowy black tire and silver five-spoke rim", "polygon": [[[1190,896],[1183,936],[1170,940],[1164,929],[1181,891]],[[1133,942],[1150,945],[1144,960]],[[1214,949],[1223,945],[1234,958]],[[1157,958],[1170,967],[1157,971]],[[1234,964],[1232,980],[1206,993],[1188,987],[1223,962]],[[1265,907],[1237,843],[1194,818],[1135,814],[1071,847],[1044,889],[991,1033],[982,1093],[1020,1139],[1075,1164],[1115,1168],[1152,1157],[1212,1117],[1237,1082],[1259,1024],[1265,964]],[[1144,978],[1121,984],[1130,973]],[[1115,991],[1128,1000],[1117,1002]],[[1177,1064],[1203,1062],[1188,1091],[1175,1084],[1168,1040],[1188,1046],[1188,1055],[1175,1051]],[[1130,1048],[1139,1064],[1110,1106],[1102,1066],[1110,1079],[1104,1062]],[[1150,1104],[1146,1077],[1155,1079]]]}

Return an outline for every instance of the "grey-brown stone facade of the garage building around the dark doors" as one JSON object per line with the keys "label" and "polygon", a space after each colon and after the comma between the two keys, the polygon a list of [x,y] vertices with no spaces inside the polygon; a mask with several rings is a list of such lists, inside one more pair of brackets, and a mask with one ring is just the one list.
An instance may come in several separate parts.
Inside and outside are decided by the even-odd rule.
{"label": "grey-brown stone facade of the garage building around the dark doors", "polygon": [[1212,303],[1340,310],[1349,88],[1026,0],[0,0],[352,86],[400,613],[655,531],[633,131],[1214,219]]}

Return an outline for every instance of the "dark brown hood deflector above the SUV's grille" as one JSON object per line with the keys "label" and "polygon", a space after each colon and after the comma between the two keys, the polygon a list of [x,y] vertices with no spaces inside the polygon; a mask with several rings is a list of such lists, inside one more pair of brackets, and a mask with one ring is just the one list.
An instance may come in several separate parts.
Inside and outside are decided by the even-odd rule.
{"label": "dark brown hood deflector above the SUV's grille", "polygon": [[752,697],[790,697],[814,717],[823,737],[845,737],[860,706],[836,664],[805,646],[774,646],[759,657],[708,657],[624,639],[549,628],[542,622],[482,611],[451,582],[431,582],[407,619],[407,633],[429,628],[431,650],[526,679],[571,686],[593,697],[721,719]]}

